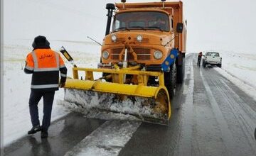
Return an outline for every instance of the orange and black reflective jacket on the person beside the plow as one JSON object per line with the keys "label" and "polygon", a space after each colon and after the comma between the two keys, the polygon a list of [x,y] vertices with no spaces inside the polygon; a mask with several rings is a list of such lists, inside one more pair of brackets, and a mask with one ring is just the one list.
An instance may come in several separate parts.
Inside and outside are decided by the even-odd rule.
{"label": "orange and black reflective jacket on the person beside the plow", "polygon": [[50,49],[36,49],[26,57],[24,72],[32,73],[31,89],[38,91],[58,90],[59,82],[65,82],[67,68],[58,52]]}

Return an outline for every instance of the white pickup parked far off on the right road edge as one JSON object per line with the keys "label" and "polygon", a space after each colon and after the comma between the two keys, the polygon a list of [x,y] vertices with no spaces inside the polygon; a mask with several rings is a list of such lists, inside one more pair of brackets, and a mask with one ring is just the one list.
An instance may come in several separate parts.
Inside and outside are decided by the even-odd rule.
{"label": "white pickup parked far off on the right road edge", "polygon": [[206,67],[206,65],[217,65],[221,67],[221,61],[222,58],[218,52],[206,52],[203,55],[203,67]]}

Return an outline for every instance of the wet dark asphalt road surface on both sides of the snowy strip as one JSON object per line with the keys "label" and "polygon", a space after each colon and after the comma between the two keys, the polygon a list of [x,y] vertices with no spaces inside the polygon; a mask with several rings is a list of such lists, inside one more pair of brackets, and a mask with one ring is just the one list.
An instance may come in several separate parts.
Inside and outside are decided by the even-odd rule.
{"label": "wet dark asphalt road surface on both sides of the snowy strip", "polygon": [[[256,155],[256,101],[215,67],[197,67],[196,57],[186,55],[169,126],[141,123],[124,147],[115,147],[119,155]],[[52,123],[47,140],[40,133],[25,136],[5,147],[4,155],[65,155],[107,122],[70,113]]]}

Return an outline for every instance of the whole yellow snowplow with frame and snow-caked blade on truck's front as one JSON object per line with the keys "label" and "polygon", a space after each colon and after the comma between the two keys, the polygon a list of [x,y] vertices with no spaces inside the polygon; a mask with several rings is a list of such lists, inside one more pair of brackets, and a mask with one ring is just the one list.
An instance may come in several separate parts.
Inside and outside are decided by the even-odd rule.
{"label": "whole yellow snowplow with frame and snow-caked blade on truck's front", "polygon": [[[85,71],[85,80],[78,79],[78,71]],[[117,77],[116,82],[93,79],[93,72],[104,72]],[[124,75],[137,75],[138,84],[124,84]],[[169,94],[164,87],[164,74],[132,69],[73,68],[74,79],[65,83],[65,101],[83,108],[124,113],[137,116],[142,121],[168,124],[171,116]],[[159,77],[157,87],[146,86],[149,76]],[[97,99],[97,100],[92,100]]]}

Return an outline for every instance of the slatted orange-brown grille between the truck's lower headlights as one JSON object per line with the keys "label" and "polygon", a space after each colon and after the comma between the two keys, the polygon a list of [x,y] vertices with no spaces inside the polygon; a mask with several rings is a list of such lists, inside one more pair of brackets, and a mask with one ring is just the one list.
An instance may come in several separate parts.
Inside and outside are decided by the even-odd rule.
{"label": "slatted orange-brown grille between the truck's lower headlights", "polygon": [[[147,48],[132,48],[137,55],[137,59],[139,60],[150,60],[150,49]],[[123,48],[113,48],[111,59],[112,60],[119,60],[119,54],[122,52]],[[128,54],[128,60],[134,60],[134,56],[132,52]],[[124,60],[124,55],[122,56],[122,60]]]}

